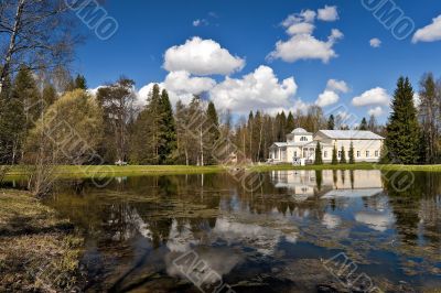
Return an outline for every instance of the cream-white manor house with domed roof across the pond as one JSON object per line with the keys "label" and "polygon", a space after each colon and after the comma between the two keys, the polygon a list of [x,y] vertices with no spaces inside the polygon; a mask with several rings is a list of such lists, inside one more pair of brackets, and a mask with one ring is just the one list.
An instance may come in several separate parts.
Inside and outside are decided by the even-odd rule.
{"label": "cream-white manor house with domed roof across the pond", "polygon": [[315,134],[302,128],[287,135],[287,142],[276,142],[270,148],[272,163],[312,163],[315,160],[318,142],[322,148],[324,163],[332,162],[334,146],[338,160],[344,146],[346,160],[349,160],[351,143],[354,145],[355,162],[379,162],[384,138],[372,131],[362,130],[320,130]]}

